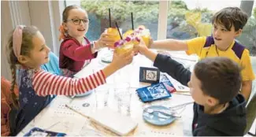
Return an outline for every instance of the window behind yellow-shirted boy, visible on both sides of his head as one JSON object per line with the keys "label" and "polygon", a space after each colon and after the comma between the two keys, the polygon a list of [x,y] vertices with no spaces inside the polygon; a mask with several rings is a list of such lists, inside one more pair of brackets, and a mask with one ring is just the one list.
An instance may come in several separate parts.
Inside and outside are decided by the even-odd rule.
{"label": "window behind yellow-shirted boy, visible on both sides of his head", "polygon": [[[249,3],[243,3],[249,2]],[[221,3],[221,4],[220,4]],[[182,0],[169,2],[167,39],[191,39],[197,36],[211,35],[211,17],[220,9],[237,6],[247,11],[253,1],[221,1],[221,0]],[[243,6],[242,6],[243,4]],[[236,40],[247,46],[251,56],[256,56],[256,4],[242,35]],[[255,66],[256,69],[256,66]]]}

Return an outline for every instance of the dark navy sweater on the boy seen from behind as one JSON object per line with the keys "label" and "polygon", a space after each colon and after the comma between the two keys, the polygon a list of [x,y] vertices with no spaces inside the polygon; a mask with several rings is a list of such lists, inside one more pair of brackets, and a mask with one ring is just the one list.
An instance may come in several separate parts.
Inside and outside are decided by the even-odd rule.
{"label": "dark navy sweater on the boy seen from behind", "polygon": [[[191,72],[171,57],[158,54],[154,66],[161,72],[166,72],[173,79],[187,86],[191,79]],[[238,94],[229,102],[229,106],[222,113],[207,114],[203,106],[194,103],[194,118],[192,133],[194,136],[243,136],[246,128],[246,101]]]}

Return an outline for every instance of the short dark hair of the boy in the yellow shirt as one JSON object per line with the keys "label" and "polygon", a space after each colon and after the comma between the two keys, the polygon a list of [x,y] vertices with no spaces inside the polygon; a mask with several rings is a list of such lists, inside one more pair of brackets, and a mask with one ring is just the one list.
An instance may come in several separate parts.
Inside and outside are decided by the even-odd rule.
{"label": "short dark hair of the boy in the yellow shirt", "polygon": [[221,24],[228,31],[231,31],[234,26],[235,31],[243,29],[244,25],[247,24],[248,15],[238,7],[227,7],[221,9],[213,15],[212,24]]}

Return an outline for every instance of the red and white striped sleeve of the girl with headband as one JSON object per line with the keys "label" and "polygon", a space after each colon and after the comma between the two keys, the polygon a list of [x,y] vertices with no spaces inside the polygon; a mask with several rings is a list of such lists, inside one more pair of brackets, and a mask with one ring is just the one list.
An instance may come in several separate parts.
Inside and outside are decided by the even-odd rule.
{"label": "red and white striped sleeve of the girl with headband", "polygon": [[102,70],[80,79],[56,76],[42,70],[35,72],[32,80],[34,90],[40,96],[83,94],[104,83],[106,77]]}

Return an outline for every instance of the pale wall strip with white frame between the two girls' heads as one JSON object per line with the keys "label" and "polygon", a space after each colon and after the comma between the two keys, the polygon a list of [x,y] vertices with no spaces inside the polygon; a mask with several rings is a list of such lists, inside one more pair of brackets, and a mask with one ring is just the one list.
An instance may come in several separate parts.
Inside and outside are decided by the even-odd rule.
{"label": "pale wall strip with white frame between the two girls' heads", "polygon": [[[44,38],[46,45],[54,52],[59,53],[58,28],[61,24],[58,1],[29,1],[30,17],[32,25],[35,25]],[[63,5],[64,8],[64,5]],[[63,9],[62,9],[63,10]],[[61,11],[62,11],[61,10]]]}

